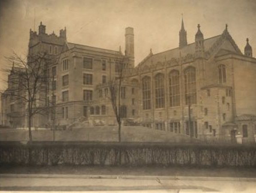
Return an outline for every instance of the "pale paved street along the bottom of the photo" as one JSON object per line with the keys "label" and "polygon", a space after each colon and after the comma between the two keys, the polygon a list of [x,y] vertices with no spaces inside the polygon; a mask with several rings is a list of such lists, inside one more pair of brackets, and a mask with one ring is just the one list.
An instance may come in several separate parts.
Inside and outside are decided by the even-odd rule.
{"label": "pale paved street along the bottom of the photo", "polygon": [[0,174],[1,191],[251,192],[256,178]]}

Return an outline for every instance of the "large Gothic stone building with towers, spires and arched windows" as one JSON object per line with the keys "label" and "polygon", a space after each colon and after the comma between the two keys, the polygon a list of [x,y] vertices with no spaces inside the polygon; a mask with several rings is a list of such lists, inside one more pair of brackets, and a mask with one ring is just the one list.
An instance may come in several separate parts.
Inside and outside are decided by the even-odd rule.
{"label": "large Gothic stone building with towers, spires and arched windows", "polygon": [[[244,54],[229,34],[208,39],[198,24],[195,42],[187,44],[182,21],[178,48],[150,53],[134,67],[133,28],[125,29],[125,54],[67,42],[60,35],[30,30],[29,53],[45,51],[56,58],[47,101],[52,113],[34,117],[34,127],[46,122],[70,125],[85,117],[88,126],[116,125],[108,82],[118,77],[120,57],[128,59],[121,104],[126,120],[151,129],[193,137],[223,137],[241,133],[244,142],[256,134],[256,59],[247,44]],[[51,104],[49,106],[51,106]],[[1,111],[2,113],[2,111]],[[1,116],[5,117],[5,116]]]}

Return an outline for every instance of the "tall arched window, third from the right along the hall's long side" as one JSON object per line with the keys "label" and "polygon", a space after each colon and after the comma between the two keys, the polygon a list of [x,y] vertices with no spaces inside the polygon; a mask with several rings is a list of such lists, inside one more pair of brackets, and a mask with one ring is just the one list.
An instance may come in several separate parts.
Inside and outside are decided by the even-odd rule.
{"label": "tall arched window, third from the right along the hall's long side", "polygon": [[155,108],[165,107],[165,76],[155,75]]}

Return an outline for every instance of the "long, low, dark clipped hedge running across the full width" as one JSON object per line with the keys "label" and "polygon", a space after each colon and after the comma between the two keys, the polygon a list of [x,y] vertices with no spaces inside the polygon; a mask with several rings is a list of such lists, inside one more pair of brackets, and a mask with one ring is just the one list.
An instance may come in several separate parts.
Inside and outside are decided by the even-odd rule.
{"label": "long, low, dark clipped hedge running across the full width", "polygon": [[1,143],[0,164],[255,167],[256,146],[163,143]]}

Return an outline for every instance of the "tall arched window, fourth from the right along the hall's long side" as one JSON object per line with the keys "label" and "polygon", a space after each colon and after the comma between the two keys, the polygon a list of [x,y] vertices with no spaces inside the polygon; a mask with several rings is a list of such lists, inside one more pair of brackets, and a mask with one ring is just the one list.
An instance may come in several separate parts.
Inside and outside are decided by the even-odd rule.
{"label": "tall arched window, fourth from the right along the hall's long side", "polygon": [[151,78],[142,79],[142,104],[143,110],[151,109]]}

